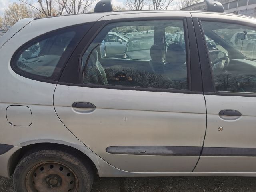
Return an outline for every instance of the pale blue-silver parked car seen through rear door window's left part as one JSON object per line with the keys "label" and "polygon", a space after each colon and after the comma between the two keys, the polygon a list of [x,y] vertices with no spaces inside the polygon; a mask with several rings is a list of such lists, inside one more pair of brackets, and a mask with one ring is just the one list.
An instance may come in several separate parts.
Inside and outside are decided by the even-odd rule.
{"label": "pale blue-silver parked car seen through rear door window's left part", "polygon": [[102,56],[122,58],[128,38],[109,32],[101,43]]}

